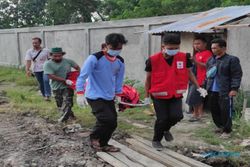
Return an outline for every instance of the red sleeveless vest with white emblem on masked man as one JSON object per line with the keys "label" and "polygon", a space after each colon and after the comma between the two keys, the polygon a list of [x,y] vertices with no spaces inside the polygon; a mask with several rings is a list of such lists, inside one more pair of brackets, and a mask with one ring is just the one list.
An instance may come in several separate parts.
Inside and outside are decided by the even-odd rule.
{"label": "red sleeveless vest with white emblem on masked man", "polygon": [[170,66],[161,52],[150,57],[151,88],[149,92],[157,99],[182,97],[187,90],[188,69],[186,54],[179,52]]}

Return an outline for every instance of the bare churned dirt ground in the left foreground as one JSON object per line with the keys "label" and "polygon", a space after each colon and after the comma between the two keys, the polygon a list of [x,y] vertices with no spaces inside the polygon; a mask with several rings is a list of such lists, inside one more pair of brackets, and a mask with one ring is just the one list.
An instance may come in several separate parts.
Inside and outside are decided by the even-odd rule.
{"label": "bare churned dirt ground in the left foreground", "polygon": [[31,113],[0,112],[0,166],[109,166],[97,159],[87,135],[66,134],[60,125]]}

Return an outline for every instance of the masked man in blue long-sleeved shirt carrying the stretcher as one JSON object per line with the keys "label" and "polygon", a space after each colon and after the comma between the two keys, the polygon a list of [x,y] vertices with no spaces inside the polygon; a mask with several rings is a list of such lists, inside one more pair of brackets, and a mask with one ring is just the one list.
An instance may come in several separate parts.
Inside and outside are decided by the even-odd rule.
{"label": "masked man in blue long-sleeved shirt carrying the stretcher", "polygon": [[[106,36],[107,51],[91,54],[84,62],[77,79],[77,103],[80,107],[90,105],[96,117],[96,125],[90,135],[92,148],[96,151],[117,152],[120,149],[108,144],[117,127],[114,99],[122,93],[124,60],[120,56],[127,40],[122,34]],[[88,79],[86,91],[84,85]]]}

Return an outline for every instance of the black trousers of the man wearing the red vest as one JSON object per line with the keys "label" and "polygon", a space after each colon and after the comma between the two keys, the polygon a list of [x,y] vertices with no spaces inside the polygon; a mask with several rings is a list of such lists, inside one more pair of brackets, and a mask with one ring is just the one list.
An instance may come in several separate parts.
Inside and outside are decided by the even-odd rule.
{"label": "black trousers of the man wearing the red vest", "polygon": [[164,132],[183,119],[182,99],[154,99],[156,121],[153,141],[161,141]]}

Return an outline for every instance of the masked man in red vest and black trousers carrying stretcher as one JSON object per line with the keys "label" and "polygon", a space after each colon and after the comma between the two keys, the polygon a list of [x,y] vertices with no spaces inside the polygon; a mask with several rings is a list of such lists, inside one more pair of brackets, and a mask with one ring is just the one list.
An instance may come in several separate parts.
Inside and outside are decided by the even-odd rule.
{"label": "masked man in red vest and black trousers carrying stretcher", "polygon": [[150,56],[146,61],[144,102],[150,103],[151,96],[156,111],[152,145],[157,150],[163,149],[163,137],[166,141],[173,140],[169,130],[183,118],[182,94],[187,89],[188,81],[196,85],[201,96],[207,95],[190,69],[190,58],[179,51],[180,43],[178,34],[165,34],[162,39],[162,51]]}

